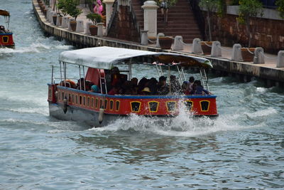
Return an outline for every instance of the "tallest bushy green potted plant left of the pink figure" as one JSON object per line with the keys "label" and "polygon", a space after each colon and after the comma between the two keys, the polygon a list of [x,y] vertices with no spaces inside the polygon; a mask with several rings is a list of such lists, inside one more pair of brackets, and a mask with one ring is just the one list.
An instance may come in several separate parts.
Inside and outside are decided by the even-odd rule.
{"label": "tallest bushy green potted plant left of the pink figure", "polygon": [[77,25],[76,19],[82,13],[82,10],[77,8],[77,6],[80,4],[80,1],[65,0],[64,4],[65,4],[64,9],[66,10],[67,14],[69,14],[75,19],[75,21],[70,21],[70,27],[72,31],[76,31],[76,25]]}

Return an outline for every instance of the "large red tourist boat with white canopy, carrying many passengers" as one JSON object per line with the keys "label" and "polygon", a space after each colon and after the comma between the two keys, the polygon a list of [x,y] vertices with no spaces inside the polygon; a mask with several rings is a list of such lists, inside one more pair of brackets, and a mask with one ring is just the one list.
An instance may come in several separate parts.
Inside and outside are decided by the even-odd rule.
{"label": "large red tourist boat with white canopy, carrying many passengers", "polygon": [[[201,79],[204,87],[208,89],[207,72],[212,64],[205,58],[185,56],[175,53],[138,51],[126,48],[96,47],[83,48],[60,53],[60,77],[55,78],[52,71],[51,83],[48,84],[48,102],[50,116],[60,120],[74,120],[85,122],[93,127],[102,127],[119,117],[131,114],[150,117],[175,117],[181,109],[189,117],[209,116],[216,117],[216,95],[108,95],[108,83],[111,80],[110,70],[113,67],[123,67],[126,75],[132,77],[132,65],[139,68],[153,67],[157,75],[163,72],[177,72],[185,80],[183,68],[200,68]],[[73,65],[73,66],[72,66]],[[72,66],[78,69],[78,85],[74,73],[67,77],[67,70]],[[165,70],[163,70],[165,68]],[[52,69],[54,70],[54,69]],[[87,73],[85,73],[87,70]],[[135,73],[134,73],[135,74]],[[137,74],[137,73],[136,73]],[[76,78],[76,79],[78,79]],[[58,80],[55,83],[55,80]],[[74,81],[75,80],[75,81]],[[181,80],[181,81],[182,81]],[[87,82],[97,85],[102,93],[87,91]]]}

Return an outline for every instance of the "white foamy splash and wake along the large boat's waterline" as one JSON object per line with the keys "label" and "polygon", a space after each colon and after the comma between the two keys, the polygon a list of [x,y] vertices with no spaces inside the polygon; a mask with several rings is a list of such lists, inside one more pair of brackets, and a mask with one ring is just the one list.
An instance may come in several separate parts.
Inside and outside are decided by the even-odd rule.
{"label": "white foamy splash and wake along the large boat's waterline", "polygon": [[[254,112],[256,116],[270,115],[275,113],[273,108]],[[116,132],[116,131],[135,131],[165,136],[195,137],[207,135],[214,132],[244,130],[251,127],[262,127],[263,122],[255,125],[241,125],[239,118],[246,113],[221,115],[217,118],[195,117],[188,115],[185,109],[181,109],[177,117],[144,117],[130,115],[129,117],[119,118],[110,125],[101,128],[92,128],[95,132]]]}

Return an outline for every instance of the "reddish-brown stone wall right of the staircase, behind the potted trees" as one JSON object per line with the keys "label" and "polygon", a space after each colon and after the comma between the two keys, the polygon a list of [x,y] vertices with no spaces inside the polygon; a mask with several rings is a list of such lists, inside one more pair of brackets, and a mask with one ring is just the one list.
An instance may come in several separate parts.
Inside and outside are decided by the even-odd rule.
{"label": "reddish-brown stone wall right of the staircase, behind the potted trees", "polygon": [[[246,26],[236,21],[237,15],[226,14],[223,18],[212,19],[212,38],[223,46],[234,43],[248,45]],[[275,53],[284,49],[284,20],[254,18],[251,21],[251,47],[262,47],[267,53]]]}

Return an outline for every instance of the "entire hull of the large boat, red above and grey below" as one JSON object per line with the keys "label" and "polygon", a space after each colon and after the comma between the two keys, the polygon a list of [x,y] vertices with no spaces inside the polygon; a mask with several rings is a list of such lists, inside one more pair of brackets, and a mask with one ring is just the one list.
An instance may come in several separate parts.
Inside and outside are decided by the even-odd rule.
{"label": "entire hull of the large boat, red above and grey below", "polygon": [[[55,92],[57,92],[55,94]],[[64,112],[64,98],[67,98],[67,112]],[[96,126],[100,108],[109,118],[127,116],[130,114],[156,117],[174,117],[181,110],[188,115],[218,116],[215,95],[104,95],[89,93],[62,86],[49,85],[48,102],[50,115],[62,120],[76,120]],[[92,115],[92,122],[74,115],[75,112],[85,112]],[[76,118],[76,119],[75,119]],[[112,120],[112,119],[110,119]],[[102,125],[107,125],[103,122]]]}

